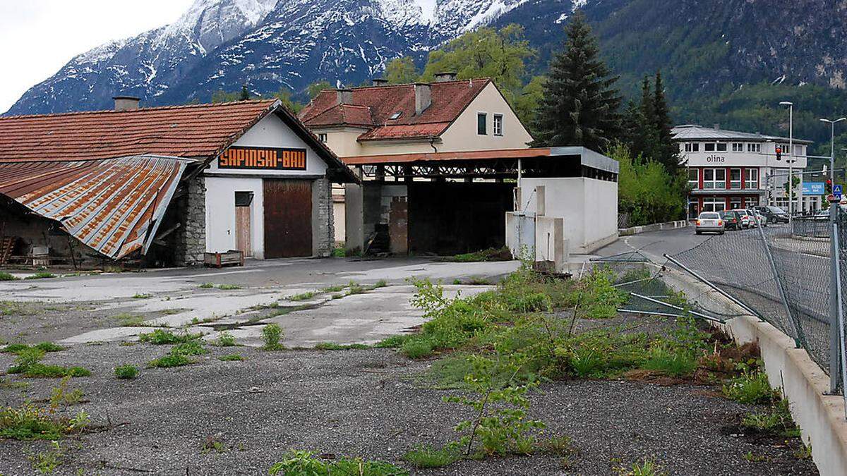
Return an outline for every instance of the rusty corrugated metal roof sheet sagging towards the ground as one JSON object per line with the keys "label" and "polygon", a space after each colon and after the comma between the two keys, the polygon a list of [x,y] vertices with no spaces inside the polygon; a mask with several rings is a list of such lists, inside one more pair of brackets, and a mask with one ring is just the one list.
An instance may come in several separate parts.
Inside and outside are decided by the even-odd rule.
{"label": "rusty corrugated metal roof sheet sagging towards the ground", "polygon": [[188,161],[152,155],[0,163],[0,194],[97,252],[147,252]]}

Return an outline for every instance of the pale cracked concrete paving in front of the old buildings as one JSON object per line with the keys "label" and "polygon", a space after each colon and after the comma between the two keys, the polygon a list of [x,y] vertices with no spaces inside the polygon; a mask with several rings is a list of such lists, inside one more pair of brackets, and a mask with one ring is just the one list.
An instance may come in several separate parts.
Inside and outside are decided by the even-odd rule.
{"label": "pale cracked concrete paving in front of the old buildings", "polygon": [[[410,278],[442,280],[450,295],[490,289],[518,262],[431,259],[282,259],[244,268],[189,268],[0,283],[0,338],[81,344],[133,340],[152,327],[184,327],[208,340],[228,331],[257,345],[262,324],[285,346],[374,343],[422,323]],[[452,283],[469,284],[452,284]]]}

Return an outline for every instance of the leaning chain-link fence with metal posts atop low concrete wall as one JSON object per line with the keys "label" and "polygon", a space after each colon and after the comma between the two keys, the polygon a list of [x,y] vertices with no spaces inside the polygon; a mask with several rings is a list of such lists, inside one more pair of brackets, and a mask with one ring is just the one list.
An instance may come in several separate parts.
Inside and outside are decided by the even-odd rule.
{"label": "leaning chain-link fence with metal posts atop low concrete wall", "polygon": [[[836,370],[834,387],[842,372],[836,365],[839,340],[833,339],[838,334],[830,334],[838,309],[833,306],[838,288],[833,285],[834,262],[830,259],[833,224],[829,219],[792,221],[790,225],[728,230],[669,259],[789,335],[828,374]],[[839,209],[836,223],[838,235],[844,235],[847,213]],[[845,246],[840,243],[839,261],[842,280],[847,283]],[[847,304],[847,299],[841,298]],[[832,361],[830,357],[834,357]]]}

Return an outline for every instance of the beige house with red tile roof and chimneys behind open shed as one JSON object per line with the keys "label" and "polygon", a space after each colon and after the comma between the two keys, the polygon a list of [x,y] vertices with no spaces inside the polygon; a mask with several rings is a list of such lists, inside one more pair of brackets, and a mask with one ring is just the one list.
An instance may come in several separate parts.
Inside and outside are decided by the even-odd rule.
{"label": "beige house with red tile roof and chimneys behind open shed", "polygon": [[[325,89],[299,114],[342,158],[529,147],[532,136],[488,78]],[[345,241],[344,191],[335,188],[335,239]]]}

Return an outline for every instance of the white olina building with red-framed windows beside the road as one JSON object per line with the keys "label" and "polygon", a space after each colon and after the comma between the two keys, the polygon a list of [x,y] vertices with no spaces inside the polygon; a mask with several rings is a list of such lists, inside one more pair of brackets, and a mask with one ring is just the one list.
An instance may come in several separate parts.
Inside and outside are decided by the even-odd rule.
{"label": "white olina building with red-framed windows beside the road", "polygon": [[[820,196],[802,196],[803,170],[808,164],[806,151],[811,141],[759,133],[723,130],[718,125],[679,125],[673,138],[688,169],[688,216],[700,212],[755,205],[776,205],[788,209],[789,160],[794,177],[800,182],[794,189],[794,209],[820,208]],[[779,154],[777,151],[779,150]]]}

